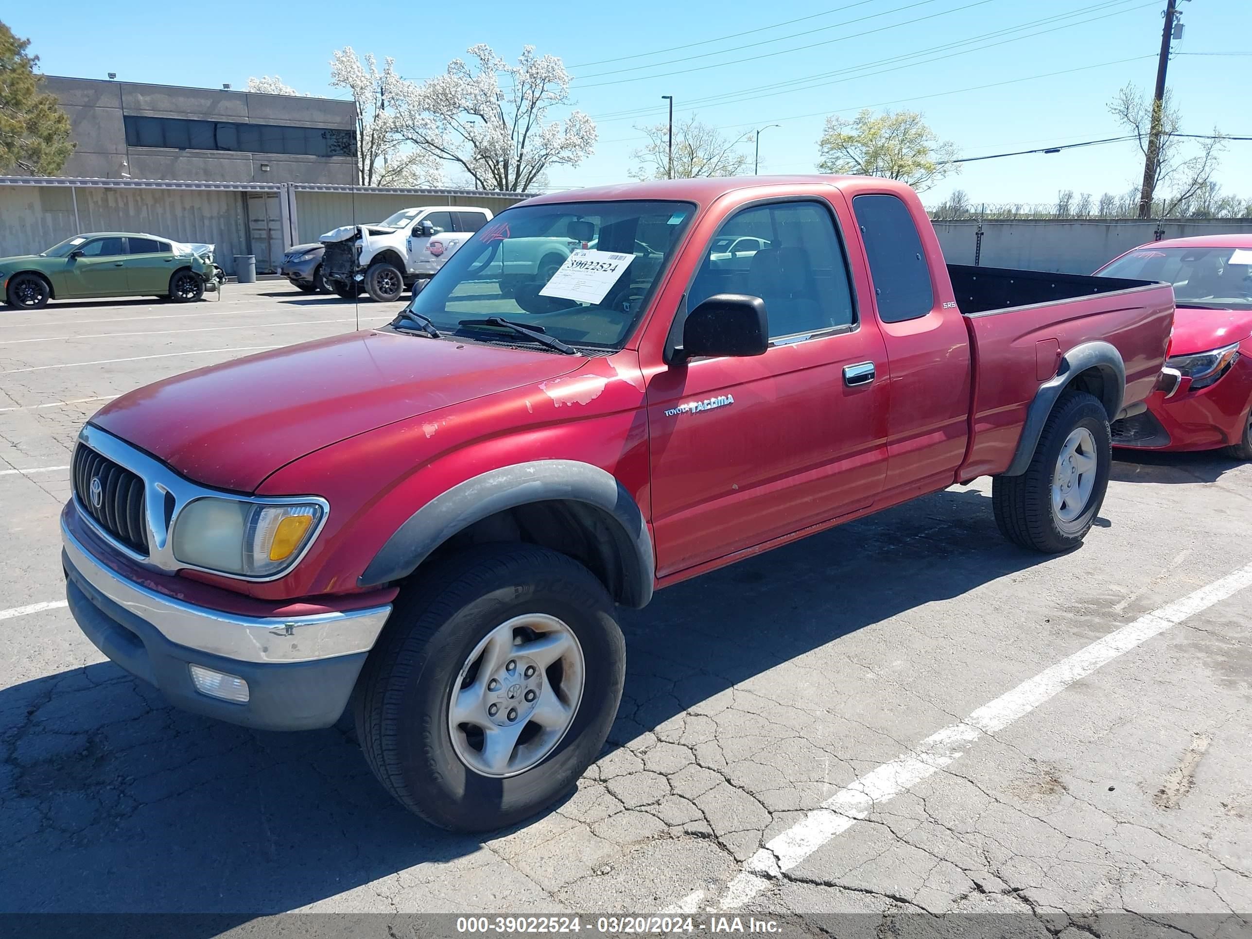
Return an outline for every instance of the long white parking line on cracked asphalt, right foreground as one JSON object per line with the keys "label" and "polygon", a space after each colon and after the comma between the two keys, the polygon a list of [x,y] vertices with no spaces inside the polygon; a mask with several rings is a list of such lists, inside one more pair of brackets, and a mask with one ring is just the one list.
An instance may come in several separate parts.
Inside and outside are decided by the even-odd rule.
{"label": "long white parking line on cracked asphalt, right foreground", "polygon": [[720,898],[714,895],[706,900],[705,891],[696,890],[666,911],[694,913],[702,905],[721,909],[742,906],[835,835],[955,761],[983,736],[1003,730],[1102,665],[1248,586],[1252,586],[1252,563],[1092,642],[983,705],[965,720],[931,734],[909,752],[840,789],[820,809],[810,811],[749,858],[744,870],[726,885]]}

